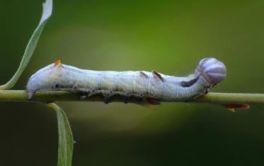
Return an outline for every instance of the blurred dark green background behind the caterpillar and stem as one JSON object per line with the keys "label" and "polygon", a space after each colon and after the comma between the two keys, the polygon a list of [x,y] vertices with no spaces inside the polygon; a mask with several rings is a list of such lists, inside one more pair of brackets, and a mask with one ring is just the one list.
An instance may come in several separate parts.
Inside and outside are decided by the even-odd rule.
{"label": "blurred dark green background behind the caterpillar and stem", "polygon": [[[44,0],[0,0],[0,82],[16,72]],[[213,92],[264,93],[264,1],[54,0],[33,58],[13,89],[61,59],[90,70],[186,75],[216,57]],[[73,165],[263,165],[264,109],[210,104],[59,102],[74,133]],[[0,165],[57,165],[57,118],[33,103],[0,103]]]}

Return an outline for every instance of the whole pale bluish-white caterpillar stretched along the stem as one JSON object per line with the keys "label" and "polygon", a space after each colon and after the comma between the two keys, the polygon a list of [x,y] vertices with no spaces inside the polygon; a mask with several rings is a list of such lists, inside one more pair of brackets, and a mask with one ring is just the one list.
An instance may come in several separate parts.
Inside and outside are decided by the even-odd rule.
{"label": "whole pale bluish-white caterpillar stretched along the stem", "polygon": [[28,99],[35,92],[68,91],[81,94],[82,99],[94,94],[103,95],[105,104],[111,96],[120,95],[125,103],[130,97],[147,99],[151,104],[159,100],[190,101],[206,94],[226,77],[223,62],[207,57],[197,64],[188,77],[174,77],[156,71],[93,71],[64,65],[60,60],[38,70],[28,80]]}

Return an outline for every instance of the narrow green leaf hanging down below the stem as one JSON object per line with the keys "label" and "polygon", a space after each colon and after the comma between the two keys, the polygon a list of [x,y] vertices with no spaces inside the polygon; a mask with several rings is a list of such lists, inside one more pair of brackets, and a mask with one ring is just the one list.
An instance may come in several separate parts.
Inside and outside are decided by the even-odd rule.
{"label": "narrow green leaf hanging down below the stem", "polygon": [[64,111],[57,104],[47,104],[57,112],[59,148],[58,166],[71,166],[71,158],[74,150],[74,138],[71,133],[71,126]]}

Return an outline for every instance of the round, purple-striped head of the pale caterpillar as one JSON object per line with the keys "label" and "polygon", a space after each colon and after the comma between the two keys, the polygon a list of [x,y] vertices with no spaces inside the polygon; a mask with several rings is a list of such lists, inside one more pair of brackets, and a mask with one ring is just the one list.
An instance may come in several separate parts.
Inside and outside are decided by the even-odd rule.
{"label": "round, purple-striped head of the pale caterpillar", "polygon": [[202,75],[210,84],[218,84],[226,78],[226,66],[214,57],[206,57],[198,63],[196,74]]}

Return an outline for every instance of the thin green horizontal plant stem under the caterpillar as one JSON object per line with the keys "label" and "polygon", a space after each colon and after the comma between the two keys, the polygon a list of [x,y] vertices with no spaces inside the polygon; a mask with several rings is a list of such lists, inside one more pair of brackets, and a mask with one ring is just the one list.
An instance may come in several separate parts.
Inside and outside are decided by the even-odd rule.
{"label": "thin green horizontal plant stem under the caterpillar", "polygon": [[[71,92],[38,92],[33,99],[28,100],[28,92],[25,90],[0,90],[0,101],[103,101],[100,94],[89,96],[88,99],[80,99],[79,95]],[[113,102],[122,102],[120,96],[113,96]],[[130,102],[139,103],[134,97],[130,98]],[[161,101],[161,102],[183,102],[183,101]],[[190,102],[210,103],[210,104],[263,104],[264,94],[241,94],[241,93],[209,93],[200,96]]]}

